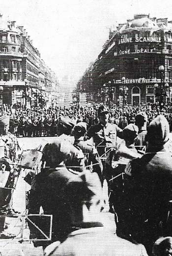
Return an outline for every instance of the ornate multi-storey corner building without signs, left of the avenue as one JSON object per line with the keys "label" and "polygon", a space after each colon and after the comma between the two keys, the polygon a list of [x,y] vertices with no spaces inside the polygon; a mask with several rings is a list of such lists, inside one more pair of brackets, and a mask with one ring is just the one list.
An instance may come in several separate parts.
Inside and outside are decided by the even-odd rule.
{"label": "ornate multi-storey corner building without signs, left of the avenue", "polygon": [[41,59],[23,26],[0,14],[0,104],[46,104],[57,76]]}

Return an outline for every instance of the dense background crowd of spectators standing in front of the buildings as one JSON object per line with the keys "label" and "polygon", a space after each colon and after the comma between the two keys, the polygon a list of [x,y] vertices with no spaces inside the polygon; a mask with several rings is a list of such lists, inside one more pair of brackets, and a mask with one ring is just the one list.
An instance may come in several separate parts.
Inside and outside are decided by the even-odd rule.
{"label": "dense background crowd of spectators standing in front of the buildings", "polygon": [[[16,123],[15,134],[20,136],[55,136],[57,135],[57,123],[61,116],[68,116],[75,123],[79,121],[86,122],[88,128],[96,124],[97,113],[96,109],[101,104],[87,104],[82,107],[79,104],[71,104],[68,107],[52,106],[49,108],[26,106],[11,109],[8,106],[3,106],[4,113],[14,118]],[[104,104],[106,105],[106,104]],[[158,104],[141,104],[140,106],[117,106],[109,105],[110,120],[115,123],[119,128],[124,128],[130,123],[134,123],[135,116],[138,111],[144,111],[150,123],[156,116],[163,114],[170,125],[172,131],[172,104],[167,104],[160,109]]]}

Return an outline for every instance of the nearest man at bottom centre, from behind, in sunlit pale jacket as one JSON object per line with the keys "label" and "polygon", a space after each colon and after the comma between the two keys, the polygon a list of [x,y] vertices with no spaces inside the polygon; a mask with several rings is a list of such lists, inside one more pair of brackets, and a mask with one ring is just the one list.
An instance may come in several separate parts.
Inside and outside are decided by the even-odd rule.
{"label": "nearest man at bottom centre, from behind, in sunlit pale jacket", "polygon": [[102,187],[96,173],[82,173],[69,180],[65,194],[71,221],[78,228],[61,244],[48,246],[45,256],[147,256],[143,245],[116,236],[112,213],[101,213]]}

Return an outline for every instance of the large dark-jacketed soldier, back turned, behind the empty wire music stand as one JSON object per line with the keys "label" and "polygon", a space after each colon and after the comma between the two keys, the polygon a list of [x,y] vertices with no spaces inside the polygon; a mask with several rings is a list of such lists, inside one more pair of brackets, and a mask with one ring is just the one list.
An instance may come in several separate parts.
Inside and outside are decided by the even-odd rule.
{"label": "large dark-jacketed soldier, back turned, behind the empty wire music stand", "polygon": [[[79,173],[66,168],[66,161],[74,152],[81,157],[81,152],[77,152],[69,141],[62,138],[57,138],[54,143],[47,143],[43,149],[43,167],[31,185],[29,214],[39,214],[41,206],[44,214],[53,214],[52,241],[63,241],[72,228],[64,189],[66,183]],[[30,219],[35,221],[34,217]],[[41,227],[48,230],[45,223]],[[37,237],[38,233],[33,226],[30,226],[30,234],[31,238]],[[35,246],[40,245],[42,244],[35,243]]]}

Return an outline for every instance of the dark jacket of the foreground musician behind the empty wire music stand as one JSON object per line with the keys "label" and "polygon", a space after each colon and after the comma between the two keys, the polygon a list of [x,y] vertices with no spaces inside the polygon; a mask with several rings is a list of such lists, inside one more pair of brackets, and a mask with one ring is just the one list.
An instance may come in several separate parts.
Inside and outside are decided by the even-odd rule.
{"label": "dark jacket of the foreground musician behind the empty wire music stand", "polygon": [[[65,166],[45,169],[35,176],[34,185],[29,195],[29,214],[38,214],[42,207],[44,214],[53,214],[52,241],[62,241],[71,232],[70,210],[66,204],[64,189],[70,178],[77,174],[68,171]],[[34,217],[30,217],[34,221]],[[37,222],[36,222],[37,223]],[[46,222],[37,223],[44,230],[49,230]],[[37,230],[29,225],[30,237],[37,236]],[[40,237],[40,232],[38,232]],[[45,239],[45,237],[44,237]],[[42,243],[42,242],[41,242]],[[40,246],[41,243],[36,243]]]}

